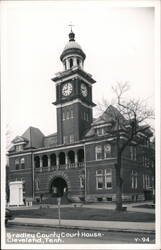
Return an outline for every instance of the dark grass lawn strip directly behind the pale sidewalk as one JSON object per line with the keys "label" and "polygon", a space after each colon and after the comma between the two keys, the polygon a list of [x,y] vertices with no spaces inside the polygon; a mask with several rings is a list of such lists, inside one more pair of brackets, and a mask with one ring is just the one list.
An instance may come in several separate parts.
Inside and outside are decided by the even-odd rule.
{"label": "dark grass lawn strip directly behind the pale sidewalk", "polygon": [[[57,208],[14,210],[15,217],[58,219]],[[61,218],[66,220],[154,222],[155,215],[142,212],[115,211],[95,208],[61,208]]]}

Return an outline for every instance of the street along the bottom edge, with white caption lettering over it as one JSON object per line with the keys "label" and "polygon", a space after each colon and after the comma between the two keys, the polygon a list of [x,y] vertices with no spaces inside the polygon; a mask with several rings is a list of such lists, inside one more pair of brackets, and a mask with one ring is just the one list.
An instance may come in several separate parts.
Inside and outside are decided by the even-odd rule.
{"label": "street along the bottom edge, with white caption lettering over it", "polygon": [[148,244],[155,235],[148,233],[107,232],[97,230],[59,229],[8,224],[8,244]]}

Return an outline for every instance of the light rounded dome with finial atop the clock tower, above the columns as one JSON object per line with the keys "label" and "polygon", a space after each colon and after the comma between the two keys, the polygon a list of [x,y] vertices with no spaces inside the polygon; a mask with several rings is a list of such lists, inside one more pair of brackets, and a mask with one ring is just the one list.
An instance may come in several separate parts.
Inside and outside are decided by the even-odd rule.
{"label": "light rounded dome with finial atop the clock tower, above the columns", "polygon": [[71,32],[69,33],[69,42],[65,45],[64,50],[60,56],[61,61],[66,55],[70,55],[73,53],[80,54],[83,59],[86,58],[86,55],[83,52],[81,46],[77,42],[75,42],[75,34],[71,30]]}

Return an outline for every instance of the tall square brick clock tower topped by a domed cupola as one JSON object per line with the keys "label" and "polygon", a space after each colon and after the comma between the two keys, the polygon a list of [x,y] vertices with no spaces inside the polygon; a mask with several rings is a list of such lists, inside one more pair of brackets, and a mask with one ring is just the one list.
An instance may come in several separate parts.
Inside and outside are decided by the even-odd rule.
{"label": "tall square brick clock tower topped by a domed cupola", "polygon": [[63,71],[52,79],[56,83],[57,142],[71,144],[83,139],[93,122],[92,85],[95,80],[84,71],[86,58],[81,46],[75,42],[72,29],[60,60]]}

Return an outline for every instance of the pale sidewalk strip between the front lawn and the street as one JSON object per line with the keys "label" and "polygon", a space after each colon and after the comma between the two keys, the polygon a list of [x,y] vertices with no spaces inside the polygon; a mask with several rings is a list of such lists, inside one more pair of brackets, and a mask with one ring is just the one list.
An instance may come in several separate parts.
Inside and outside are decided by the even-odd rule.
{"label": "pale sidewalk strip between the front lawn and the street", "polygon": [[15,218],[11,224],[43,226],[52,228],[66,229],[88,229],[99,231],[117,231],[117,232],[138,232],[154,233],[154,222],[121,222],[121,221],[89,221],[89,220],[61,220],[58,219],[40,219],[40,218]]}

